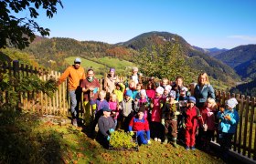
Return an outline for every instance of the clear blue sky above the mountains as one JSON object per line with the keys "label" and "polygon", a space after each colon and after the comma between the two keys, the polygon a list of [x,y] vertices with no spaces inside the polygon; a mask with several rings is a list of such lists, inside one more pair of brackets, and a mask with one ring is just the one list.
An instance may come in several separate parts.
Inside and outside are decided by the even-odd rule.
{"label": "clear blue sky above the mountains", "polygon": [[[40,12],[50,37],[124,42],[150,31],[182,36],[192,46],[256,44],[256,0],[62,0],[57,15]],[[26,11],[25,11],[26,12]]]}

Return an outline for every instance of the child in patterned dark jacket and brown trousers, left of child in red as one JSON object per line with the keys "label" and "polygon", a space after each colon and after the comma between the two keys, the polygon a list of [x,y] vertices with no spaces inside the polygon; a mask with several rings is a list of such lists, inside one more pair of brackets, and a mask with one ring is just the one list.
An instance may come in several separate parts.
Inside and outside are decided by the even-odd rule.
{"label": "child in patterned dark jacket and brown trousers, left of child in red", "polygon": [[175,100],[175,95],[170,94],[167,99],[165,106],[163,108],[162,120],[161,123],[165,126],[165,141],[164,144],[167,144],[168,138],[167,135],[171,136],[173,145],[176,148],[176,138],[177,138],[177,115],[179,115],[179,104]]}

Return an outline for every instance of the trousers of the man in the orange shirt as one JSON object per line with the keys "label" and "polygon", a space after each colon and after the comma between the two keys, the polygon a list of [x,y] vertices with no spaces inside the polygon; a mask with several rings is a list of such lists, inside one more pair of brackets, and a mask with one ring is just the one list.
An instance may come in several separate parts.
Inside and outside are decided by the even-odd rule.
{"label": "trousers of the man in the orange shirt", "polygon": [[69,97],[71,101],[71,115],[72,118],[79,117],[79,103],[80,103],[81,92],[77,90],[69,90]]}

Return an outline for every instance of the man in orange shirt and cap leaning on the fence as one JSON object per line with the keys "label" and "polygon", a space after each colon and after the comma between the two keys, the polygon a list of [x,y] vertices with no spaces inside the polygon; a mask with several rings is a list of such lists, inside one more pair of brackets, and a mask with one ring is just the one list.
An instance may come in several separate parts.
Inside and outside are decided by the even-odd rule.
{"label": "man in orange shirt and cap leaning on the fence", "polygon": [[72,114],[72,124],[77,127],[77,118],[79,118],[79,102],[81,96],[80,82],[85,79],[84,68],[80,67],[80,58],[74,60],[74,65],[69,66],[65,72],[59,77],[59,85],[69,79],[69,97],[71,101],[71,114]]}

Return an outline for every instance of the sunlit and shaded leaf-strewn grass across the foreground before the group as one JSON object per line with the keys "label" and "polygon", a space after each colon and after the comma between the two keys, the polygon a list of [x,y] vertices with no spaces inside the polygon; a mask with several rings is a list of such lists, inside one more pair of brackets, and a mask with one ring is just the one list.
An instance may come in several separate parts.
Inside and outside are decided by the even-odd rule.
{"label": "sunlit and shaded leaf-strewn grass across the foreground before the group", "polygon": [[37,115],[2,112],[0,120],[0,163],[224,163],[155,141],[139,151],[103,149],[81,128],[41,122]]}

